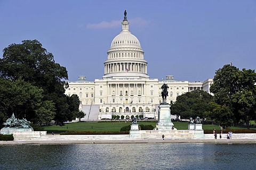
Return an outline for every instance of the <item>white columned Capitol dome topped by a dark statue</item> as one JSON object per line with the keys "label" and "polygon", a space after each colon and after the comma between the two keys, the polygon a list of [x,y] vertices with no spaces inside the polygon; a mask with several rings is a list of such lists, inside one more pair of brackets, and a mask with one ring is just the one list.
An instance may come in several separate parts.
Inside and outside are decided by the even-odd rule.
{"label": "white columned Capitol dome topped by a dark statue", "polygon": [[108,60],[104,62],[103,78],[149,78],[147,61],[140,41],[129,30],[129,22],[124,12],[122,31],[111,42],[107,52]]}

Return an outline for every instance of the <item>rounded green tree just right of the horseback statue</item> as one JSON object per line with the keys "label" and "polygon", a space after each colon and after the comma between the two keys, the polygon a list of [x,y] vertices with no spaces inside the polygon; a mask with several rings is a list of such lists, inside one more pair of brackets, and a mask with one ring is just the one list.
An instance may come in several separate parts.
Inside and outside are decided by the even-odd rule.
{"label": "rounded green tree just right of the horseback statue", "polygon": [[183,118],[204,117],[204,113],[209,111],[209,103],[212,96],[203,90],[186,92],[177,97],[175,103],[171,104],[171,113]]}

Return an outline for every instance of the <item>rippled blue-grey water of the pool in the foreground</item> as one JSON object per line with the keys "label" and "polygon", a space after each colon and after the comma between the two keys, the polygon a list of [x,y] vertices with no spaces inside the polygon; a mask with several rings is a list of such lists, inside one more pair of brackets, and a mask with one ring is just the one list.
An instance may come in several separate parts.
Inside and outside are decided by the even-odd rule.
{"label": "rippled blue-grey water of the pool in the foreground", "polygon": [[256,144],[0,146],[0,169],[255,169]]}

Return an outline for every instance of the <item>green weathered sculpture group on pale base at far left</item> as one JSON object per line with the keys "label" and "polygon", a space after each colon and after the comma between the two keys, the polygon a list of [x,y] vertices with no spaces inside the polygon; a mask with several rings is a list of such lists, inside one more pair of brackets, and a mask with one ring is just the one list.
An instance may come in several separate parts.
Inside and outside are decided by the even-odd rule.
{"label": "green weathered sculpture group on pale base at far left", "polygon": [[13,134],[13,132],[34,131],[30,126],[30,122],[23,118],[19,120],[15,118],[14,114],[4,124],[4,128],[1,129],[1,134]]}

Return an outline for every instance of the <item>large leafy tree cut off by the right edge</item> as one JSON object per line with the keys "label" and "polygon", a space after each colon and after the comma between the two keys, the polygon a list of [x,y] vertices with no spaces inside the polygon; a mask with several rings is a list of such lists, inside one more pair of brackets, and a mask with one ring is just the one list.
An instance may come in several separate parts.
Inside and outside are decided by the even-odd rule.
{"label": "large leafy tree cut off by the right edge", "polygon": [[256,73],[254,70],[239,71],[235,66],[224,65],[217,70],[210,91],[215,103],[226,106],[233,113],[233,122],[249,121],[255,117]]}

